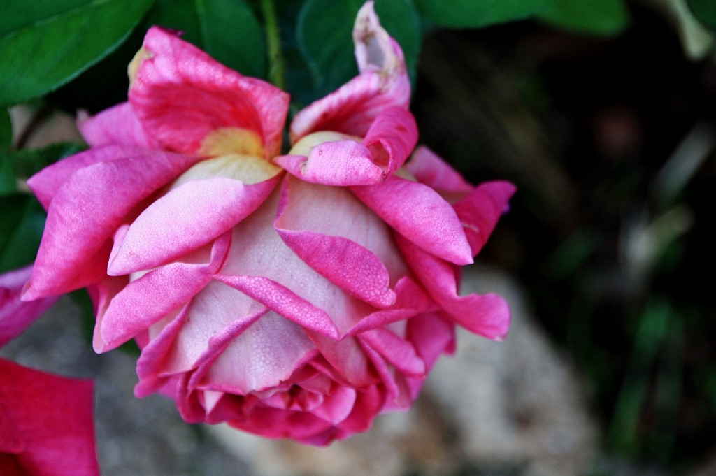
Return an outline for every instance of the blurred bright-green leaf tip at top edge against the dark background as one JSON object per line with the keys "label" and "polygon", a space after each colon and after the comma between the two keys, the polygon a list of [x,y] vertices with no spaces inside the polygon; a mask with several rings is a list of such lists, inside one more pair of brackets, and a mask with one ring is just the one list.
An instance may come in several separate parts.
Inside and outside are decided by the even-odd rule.
{"label": "blurred bright-green leaf tip at top edge against the dark background", "polygon": [[596,35],[618,34],[629,25],[623,0],[552,0],[538,18],[558,28]]}

